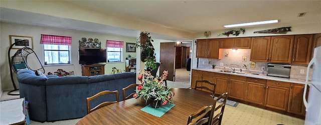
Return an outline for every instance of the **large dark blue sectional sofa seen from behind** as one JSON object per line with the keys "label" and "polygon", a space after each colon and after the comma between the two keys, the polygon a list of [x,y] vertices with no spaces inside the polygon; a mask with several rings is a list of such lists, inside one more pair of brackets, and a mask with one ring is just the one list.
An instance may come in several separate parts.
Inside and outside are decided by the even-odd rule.
{"label": "large dark blue sectional sofa seen from behind", "polygon": [[[103,90],[118,90],[135,83],[134,72],[97,76],[37,76],[32,70],[17,72],[20,97],[29,101],[29,115],[35,121],[56,121],[83,117],[87,114],[86,98]],[[132,88],[130,91],[134,91]],[[127,92],[131,93],[131,92]],[[115,101],[107,95],[91,102],[91,108],[103,100]]]}

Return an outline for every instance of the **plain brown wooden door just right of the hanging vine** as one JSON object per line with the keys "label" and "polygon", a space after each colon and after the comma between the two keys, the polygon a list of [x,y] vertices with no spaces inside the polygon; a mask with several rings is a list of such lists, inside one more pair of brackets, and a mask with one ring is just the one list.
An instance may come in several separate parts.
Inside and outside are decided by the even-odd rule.
{"label": "plain brown wooden door just right of the hanging vine", "polygon": [[164,70],[169,72],[167,80],[175,80],[175,42],[161,43],[161,50],[159,53],[159,73],[163,74]]}

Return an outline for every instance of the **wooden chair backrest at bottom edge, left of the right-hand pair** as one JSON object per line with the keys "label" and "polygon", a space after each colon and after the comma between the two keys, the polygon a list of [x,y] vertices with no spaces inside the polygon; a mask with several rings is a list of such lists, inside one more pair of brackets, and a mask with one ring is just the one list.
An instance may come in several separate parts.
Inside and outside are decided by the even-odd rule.
{"label": "wooden chair backrest at bottom edge, left of the right-hand pair", "polygon": [[[187,124],[209,123],[209,121],[211,120],[210,116],[212,115],[212,108],[213,108],[213,105],[203,106],[198,111],[189,115],[189,119],[187,121]],[[193,119],[195,119],[196,117],[199,117],[199,118],[195,122],[193,122]]]}

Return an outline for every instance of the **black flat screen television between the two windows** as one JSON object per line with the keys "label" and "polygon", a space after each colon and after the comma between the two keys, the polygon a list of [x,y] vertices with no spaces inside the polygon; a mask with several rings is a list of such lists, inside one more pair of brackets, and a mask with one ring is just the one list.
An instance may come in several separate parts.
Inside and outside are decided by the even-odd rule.
{"label": "black flat screen television between the two windows", "polygon": [[79,48],[79,64],[95,64],[106,62],[106,49]]}

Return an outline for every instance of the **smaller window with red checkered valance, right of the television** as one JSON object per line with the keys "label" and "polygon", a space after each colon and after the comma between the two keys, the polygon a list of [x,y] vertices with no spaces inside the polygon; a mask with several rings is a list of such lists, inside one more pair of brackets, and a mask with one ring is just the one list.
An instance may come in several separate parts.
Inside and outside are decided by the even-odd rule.
{"label": "smaller window with red checkered valance, right of the television", "polygon": [[106,41],[108,62],[121,62],[123,43],[123,41]]}

